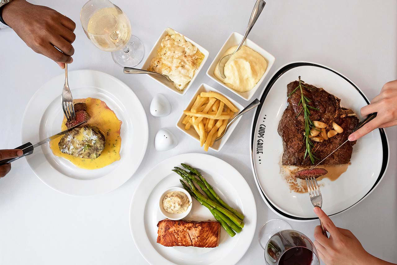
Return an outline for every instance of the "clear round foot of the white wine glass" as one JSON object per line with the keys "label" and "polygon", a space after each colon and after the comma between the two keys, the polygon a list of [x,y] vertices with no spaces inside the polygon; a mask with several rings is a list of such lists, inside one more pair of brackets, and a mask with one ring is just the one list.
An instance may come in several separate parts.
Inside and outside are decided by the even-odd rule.
{"label": "clear round foot of the white wine glass", "polygon": [[[126,49],[127,48],[127,49]],[[127,50],[127,52],[125,52]],[[131,35],[128,43],[119,51],[112,52],[112,58],[121,67],[137,66],[145,55],[145,47],[135,36]]]}

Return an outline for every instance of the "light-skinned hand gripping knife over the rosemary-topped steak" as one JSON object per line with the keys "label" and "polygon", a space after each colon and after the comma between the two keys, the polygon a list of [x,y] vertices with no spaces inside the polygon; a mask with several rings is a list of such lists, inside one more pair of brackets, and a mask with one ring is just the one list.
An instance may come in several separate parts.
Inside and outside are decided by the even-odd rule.
{"label": "light-skinned hand gripping knife over the rosemary-topped steak", "polygon": [[361,108],[361,115],[377,112],[376,117],[349,135],[349,141],[355,141],[358,138],[370,133],[376,128],[386,128],[397,125],[397,80],[384,84],[380,94],[372,99],[370,105]]}

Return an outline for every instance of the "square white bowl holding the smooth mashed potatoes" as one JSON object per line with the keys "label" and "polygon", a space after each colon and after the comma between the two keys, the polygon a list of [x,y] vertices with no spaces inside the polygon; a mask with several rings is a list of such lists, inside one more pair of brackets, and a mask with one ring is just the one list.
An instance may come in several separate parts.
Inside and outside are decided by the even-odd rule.
{"label": "square white bowl holding the smooth mashed potatoes", "polygon": [[253,41],[251,41],[250,39],[245,39],[243,45],[251,48],[252,50],[256,51],[257,53],[259,53],[260,55],[262,55],[263,58],[265,58],[268,66],[266,68],[266,71],[264,72],[263,76],[260,78],[260,80],[258,81],[258,83],[256,83],[256,85],[247,92],[237,92],[231,88],[229,88],[228,86],[226,86],[226,84],[222,81],[220,81],[218,78],[216,78],[216,76],[214,75],[214,70],[216,67],[216,64],[219,62],[220,59],[222,59],[222,55],[228,50],[230,49],[230,47],[233,47],[235,45],[239,45],[240,41],[243,39],[243,35],[241,35],[240,33],[237,32],[233,32],[230,34],[229,38],[225,41],[224,45],[222,46],[222,48],[220,49],[220,51],[218,52],[218,54],[216,55],[216,57],[214,58],[214,60],[212,61],[210,67],[207,70],[207,76],[209,76],[210,78],[212,78],[215,82],[217,82],[218,84],[220,84],[221,86],[227,88],[228,90],[230,90],[231,92],[233,92],[236,95],[239,95],[240,97],[242,97],[245,100],[250,100],[251,97],[255,94],[256,90],[258,90],[258,88],[260,87],[260,85],[262,84],[263,80],[265,79],[266,75],[269,73],[270,68],[272,68],[273,64],[274,64],[274,60],[276,60],[274,58],[273,55],[271,55],[270,53],[268,53],[267,51],[265,51],[264,49],[262,49],[261,47],[259,47],[257,44],[255,44]]}

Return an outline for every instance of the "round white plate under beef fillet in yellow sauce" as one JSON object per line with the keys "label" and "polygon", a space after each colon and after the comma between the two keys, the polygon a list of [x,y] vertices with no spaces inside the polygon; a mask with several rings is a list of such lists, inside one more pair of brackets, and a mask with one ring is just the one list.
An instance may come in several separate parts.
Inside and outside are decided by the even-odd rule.
{"label": "round white plate under beef fillet in yellow sauce", "polygon": [[[148,122],[138,97],[126,84],[103,72],[77,70],[68,73],[74,99],[93,97],[104,101],[122,121],[120,160],[96,170],[77,168],[54,156],[50,144],[35,148],[26,160],[37,177],[51,188],[75,196],[102,194],[127,181],[146,152]],[[22,142],[38,142],[61,131],[63,111],[60,92],[64,75],[44,84],[29,101],[22,121]]]}

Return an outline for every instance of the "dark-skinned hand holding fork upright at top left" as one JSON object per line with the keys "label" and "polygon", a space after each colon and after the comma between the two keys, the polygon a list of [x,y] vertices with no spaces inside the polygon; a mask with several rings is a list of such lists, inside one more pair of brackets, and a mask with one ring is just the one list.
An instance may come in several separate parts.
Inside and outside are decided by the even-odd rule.
{"label": "dark-skinned hand holding fork upright at top left", "polygon": [[2,10],[4,21],[36,53],[59,64],[73,62],[71,45],[76,39],[76,24],[66,16],[46,6],[38,6],[25,0],[13,0]]}

